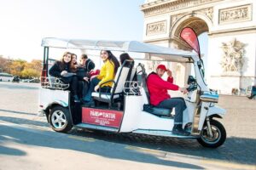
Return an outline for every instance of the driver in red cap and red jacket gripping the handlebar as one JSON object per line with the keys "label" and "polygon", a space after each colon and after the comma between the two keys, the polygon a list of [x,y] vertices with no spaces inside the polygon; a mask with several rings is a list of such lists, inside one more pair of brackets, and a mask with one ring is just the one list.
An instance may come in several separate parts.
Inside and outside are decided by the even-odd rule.
{"label": "driver in red cap and red jacket gripping the handlebar", "polygon": [[[166,71],[168,79],[164,81],[161,77]],[[186,88],[179,88],[176,84],[173,84],[172,71],[166,69],[165,65],[158,65],[156,72],[152,72],[148,75],[147,86],[151,105],[166,109],[175,108],[172,133],[189,135],[188,132],[183,130],[183,111],[186,109],[185,101],[181,98],[171,98],[167,92],[167,90],[179,90],[183,93],[187,93]]]}

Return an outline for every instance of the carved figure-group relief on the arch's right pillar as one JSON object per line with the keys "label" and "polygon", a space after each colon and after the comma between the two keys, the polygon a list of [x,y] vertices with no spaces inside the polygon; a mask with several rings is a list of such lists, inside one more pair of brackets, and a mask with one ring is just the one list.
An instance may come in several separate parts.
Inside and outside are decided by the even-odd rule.
{"label": "carved figure-group relief on the arch's right pillar", "polygon": [[224,52],[221,66],[225,72],[239,72],[243,65],[243,55],[245,44],[236,41],[234,38],[230,42],[223,42],[222,49]]}

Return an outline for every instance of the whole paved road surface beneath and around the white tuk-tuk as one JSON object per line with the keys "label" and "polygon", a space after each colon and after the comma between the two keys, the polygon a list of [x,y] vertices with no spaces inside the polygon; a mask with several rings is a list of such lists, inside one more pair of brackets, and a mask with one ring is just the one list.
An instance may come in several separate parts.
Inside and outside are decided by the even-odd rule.
{"label": "whole paved road surface beneath and around the white tuk-tuk", "polygon": [[37,116],[38,84],[0,82],[0,169],[256,169],[256,100],[221,96],[219,105],[228,138],[212,150],[194,139],[55,133]]}

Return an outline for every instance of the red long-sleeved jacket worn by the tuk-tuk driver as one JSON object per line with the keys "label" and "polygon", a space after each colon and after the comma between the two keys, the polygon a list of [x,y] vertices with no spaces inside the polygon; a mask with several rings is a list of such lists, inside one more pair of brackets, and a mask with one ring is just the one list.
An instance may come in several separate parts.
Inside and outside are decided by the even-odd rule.
{"label": "red long-sleeved jacket worn by the tuk-tuk driver", "polygon": [[167,81],[164,81],[155,72],[148,75],[147,87],[150,96],[151,105],[159,105],[161,101],[170,99],[171,96],[167,90],[178,90],[178,86],[173,84],[173,77],[168,77]]}

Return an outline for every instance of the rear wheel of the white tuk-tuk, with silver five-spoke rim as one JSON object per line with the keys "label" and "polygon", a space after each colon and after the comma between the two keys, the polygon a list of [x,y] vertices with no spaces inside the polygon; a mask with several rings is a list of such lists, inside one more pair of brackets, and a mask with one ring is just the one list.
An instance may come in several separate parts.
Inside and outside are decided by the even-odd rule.
{"label": "rear wheel of the white tuk-tuk, with silver five-spoke rim", "polygon": [[68,109],[62,106],[55,106],[49,111],[49,123],[59,133],[67,133],[73,127]]}

